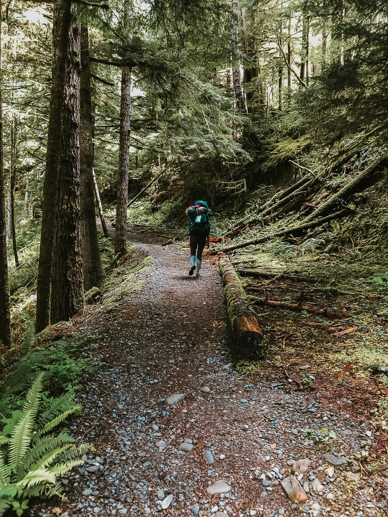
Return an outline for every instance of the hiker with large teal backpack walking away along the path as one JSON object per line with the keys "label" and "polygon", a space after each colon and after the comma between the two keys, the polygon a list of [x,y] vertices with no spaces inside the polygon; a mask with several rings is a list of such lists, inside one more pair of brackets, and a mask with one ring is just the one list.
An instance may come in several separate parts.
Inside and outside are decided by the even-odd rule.
{"label": "hiker with large teal backpack walking away along the path", "polygon": [[203,249],[205,246],[206,248],[210,246],[210,221],[208,216],[211,214],[212,212],[205,201],[196,201],[186,210],[186,215],[189,217],[190,277],[196,271],[196,277],[199,278]]}

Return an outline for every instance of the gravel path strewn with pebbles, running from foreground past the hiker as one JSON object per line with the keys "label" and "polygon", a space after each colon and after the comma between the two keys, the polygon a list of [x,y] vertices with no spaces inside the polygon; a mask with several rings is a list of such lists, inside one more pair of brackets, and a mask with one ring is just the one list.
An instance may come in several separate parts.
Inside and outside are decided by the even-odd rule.
{"label": "gravel path strewn with pebbles, running from foreground past the hiker", "polygon": [[[74,433],[96,451],[65,479],[68,500],[32,515],[386,515],[388,473],[360,468],[373,429],[351,397],[238,373],[216,267],[188,277],[187,250],[139,246],[152,257],[141,292],[80,324],[100,348]],[[294,470],[299,504],[281,486]]]}

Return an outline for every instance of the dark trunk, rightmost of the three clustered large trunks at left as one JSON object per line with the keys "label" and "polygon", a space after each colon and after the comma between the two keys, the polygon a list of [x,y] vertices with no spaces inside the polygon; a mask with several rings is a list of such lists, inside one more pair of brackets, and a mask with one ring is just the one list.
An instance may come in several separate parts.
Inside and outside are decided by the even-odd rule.
{"label": "dark trunk, rightmost of the three clustered large trunks at left", "polygon": [[80,107],[80,207],[81,255],[84,290],[100,284],[103,278],[98,248],[96,209],[93,181],[93,135],[91,66],[89,35],[86,24],[81,25],[81,107]]}

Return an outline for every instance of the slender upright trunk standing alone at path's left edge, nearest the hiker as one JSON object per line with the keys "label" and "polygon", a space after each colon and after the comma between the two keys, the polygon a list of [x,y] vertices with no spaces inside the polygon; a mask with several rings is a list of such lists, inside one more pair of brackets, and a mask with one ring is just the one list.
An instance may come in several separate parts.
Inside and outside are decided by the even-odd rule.
{"label": "slender upright trunk standing alone at path's left edge, nearest the hiker", "polygon": [[120,151],[118,155],[118,182],[116,208],[116,237],[114,252],[127,252],[127,203],[129,179],[129,141],[131,124],[131,70],[123,67],[121,76]]}

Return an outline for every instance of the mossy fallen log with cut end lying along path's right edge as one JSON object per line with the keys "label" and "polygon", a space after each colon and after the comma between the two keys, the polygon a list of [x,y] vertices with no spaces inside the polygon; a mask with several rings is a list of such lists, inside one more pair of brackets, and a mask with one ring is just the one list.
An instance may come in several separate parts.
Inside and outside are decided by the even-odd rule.
{"label": "mossy fallen log with cut end lying along path's right edge", "polygon": [[229,322],[234,334],[234,355],[242,359],[264,359],[268,344],[241,280],[226,257],[219,257],[218,266],[225,286]]}

